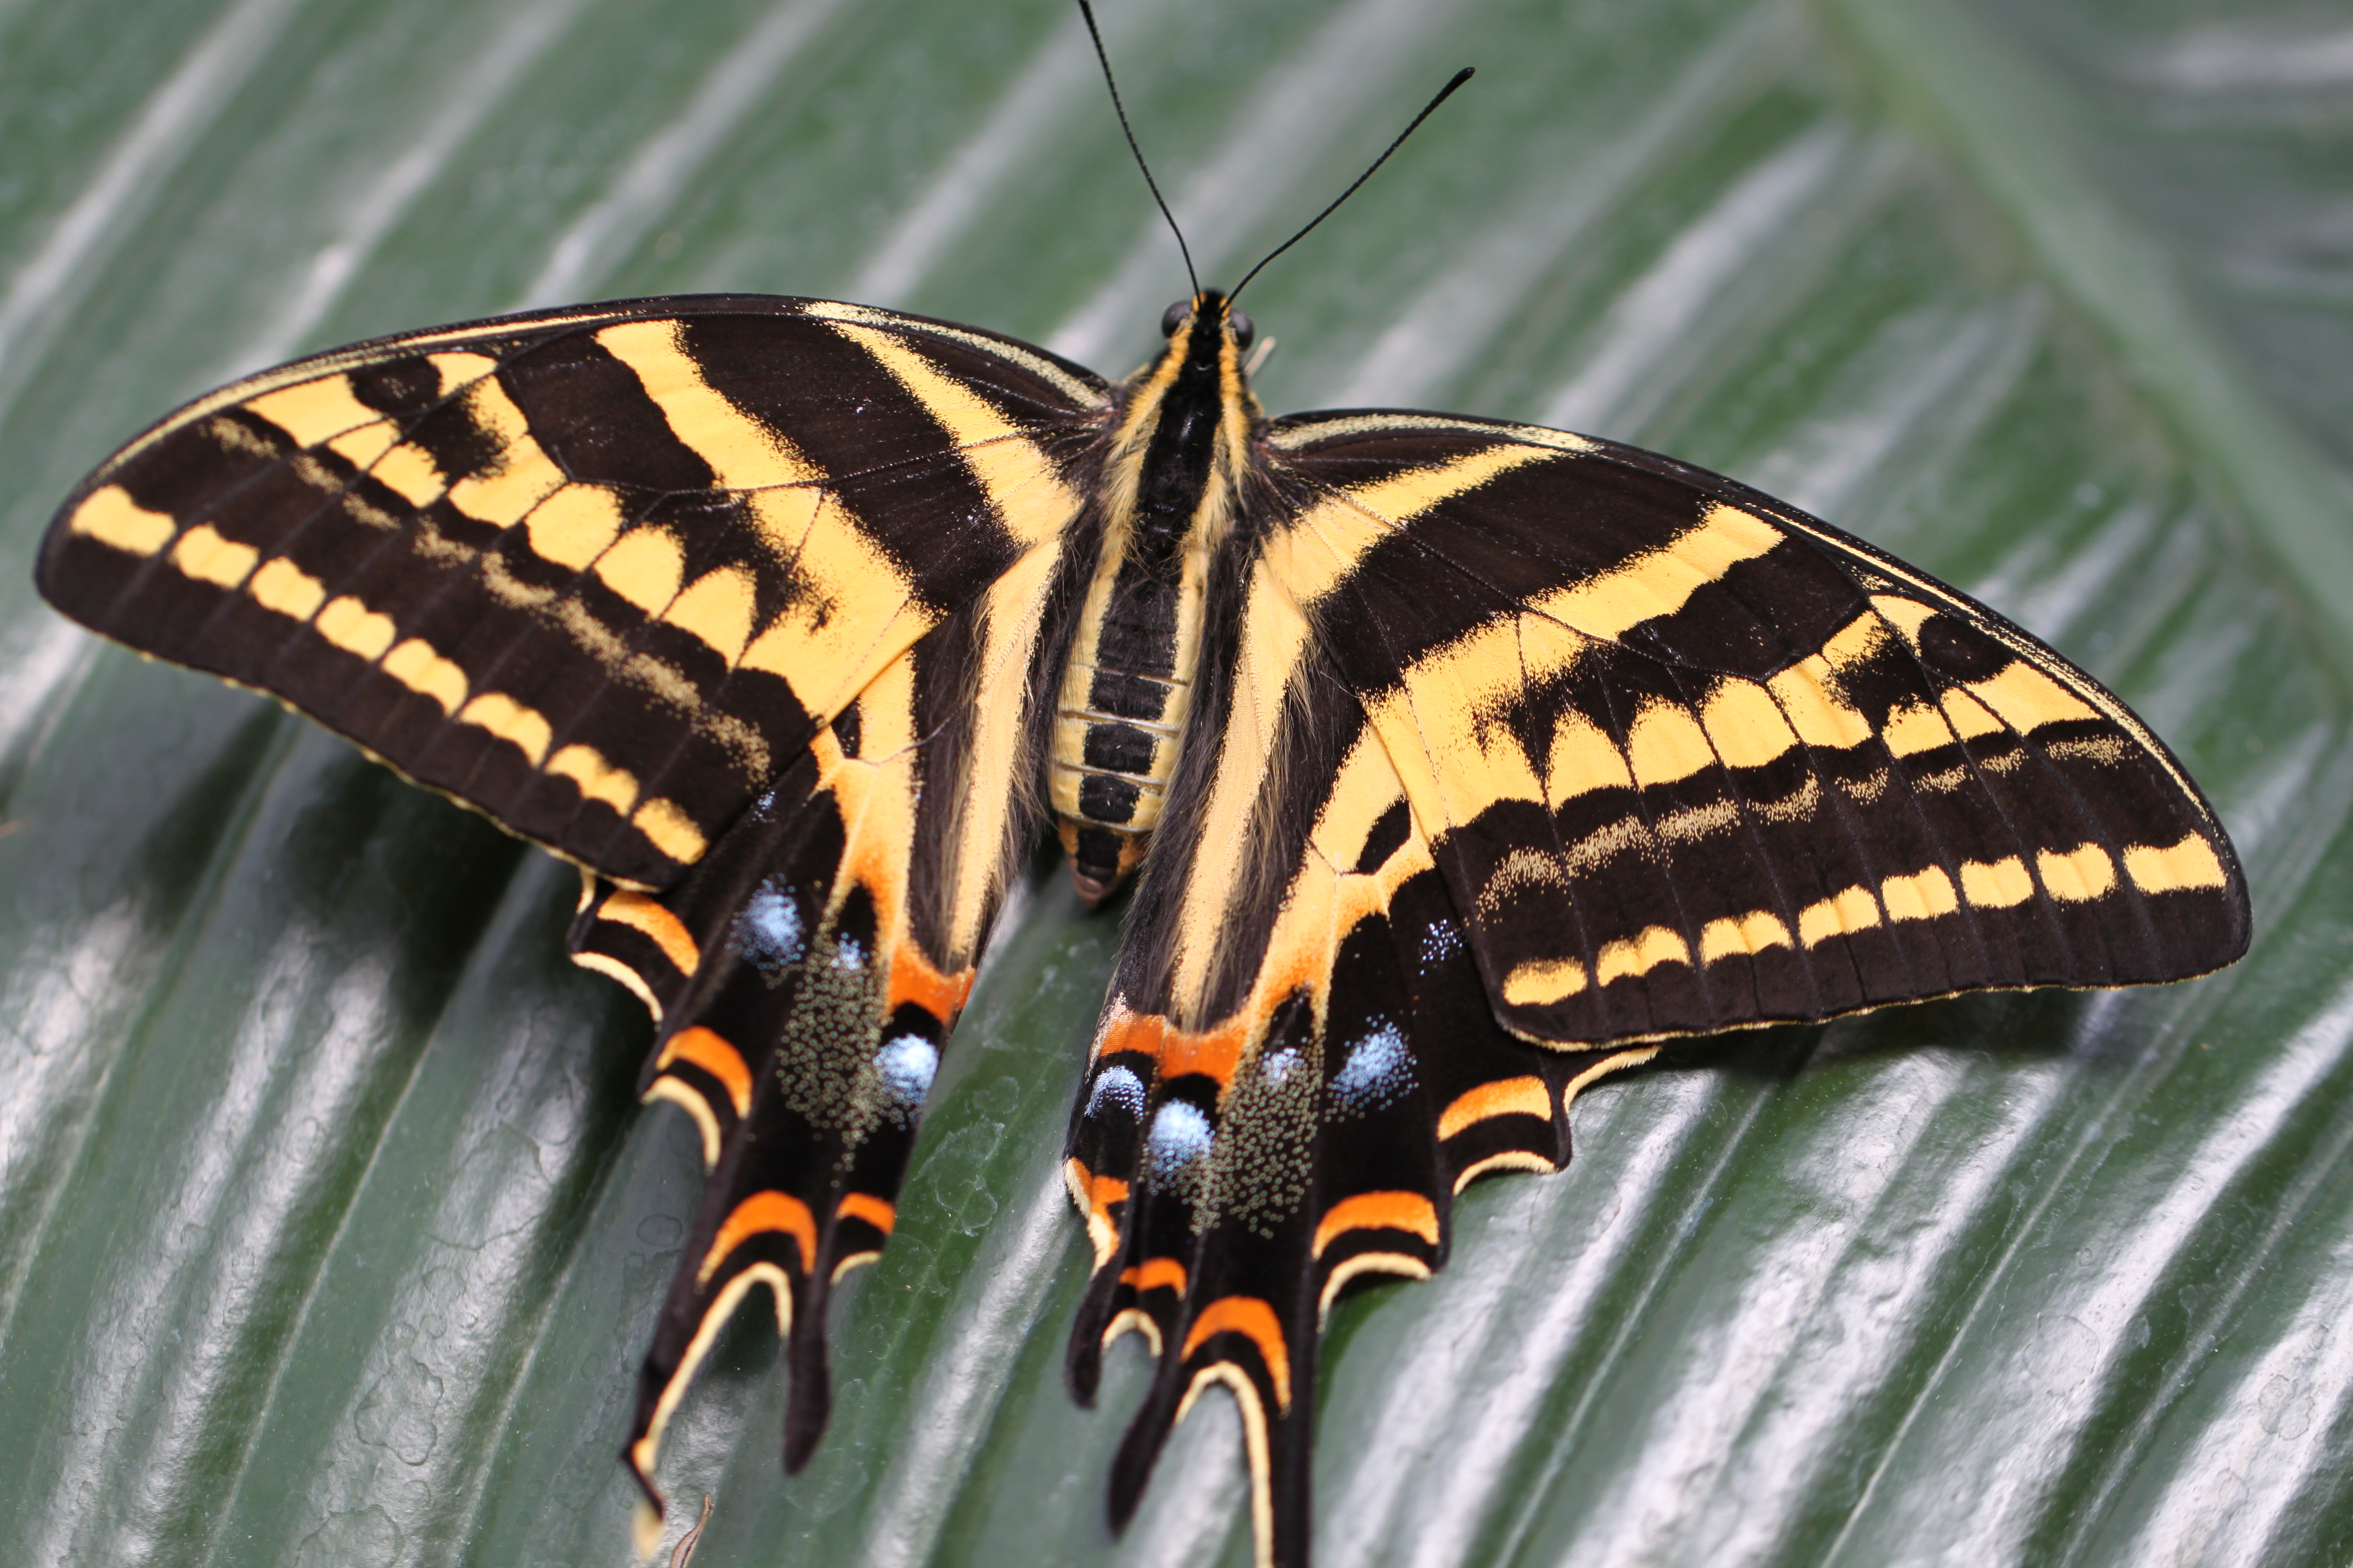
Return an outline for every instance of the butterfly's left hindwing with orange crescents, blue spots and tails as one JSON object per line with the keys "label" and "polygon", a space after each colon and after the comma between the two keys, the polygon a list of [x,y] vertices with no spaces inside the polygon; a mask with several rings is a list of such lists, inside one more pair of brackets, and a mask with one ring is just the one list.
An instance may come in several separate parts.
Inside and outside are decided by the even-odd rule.
{"label": "butterfly's left hindwing with orange crescents, blue spots and tails", "polygon": [[628,1462],[711,1335],[767,1286],[788,1338],[786,1465],[826,1425],[826,1300],[892,1232],[915,1119],[1035,830],[1002,778],[1038,766],[1038,651],[1059,548],[894,658],[668,893],[591,882],[574,957],[656,1013],[642,1093],[680,1105],[711,1171],[638,1378]]}

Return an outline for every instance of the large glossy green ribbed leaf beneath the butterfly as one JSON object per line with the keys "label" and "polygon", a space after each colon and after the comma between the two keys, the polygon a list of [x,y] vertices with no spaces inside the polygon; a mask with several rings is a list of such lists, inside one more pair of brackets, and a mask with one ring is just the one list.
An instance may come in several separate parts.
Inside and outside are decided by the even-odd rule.
{"label": "large glossy green ribbed leaf beneath the butterfly", "polygon": [[[1334,1316],[1325,1563],[2353,1556],[2353,21],[2299,0],[1104,0],[1271,409],[1659,447],[1991,599],[2228,820],[2238,969],[1673,1048]],[[207,386],[529,303],[755,289],[1108,374],[1184,275],[1064,0],[0,0],[0,1559],[628,1561],[699,1185],[574,877],[99,649],[49,508]],[[1205,1401],[1125,1540],[1054,1166],[1115,924],[1002,936],[838,1410],[746,1312],[720,1563],[1247,1563]],[[675,1526],[673,1526],[675,1533]]]}

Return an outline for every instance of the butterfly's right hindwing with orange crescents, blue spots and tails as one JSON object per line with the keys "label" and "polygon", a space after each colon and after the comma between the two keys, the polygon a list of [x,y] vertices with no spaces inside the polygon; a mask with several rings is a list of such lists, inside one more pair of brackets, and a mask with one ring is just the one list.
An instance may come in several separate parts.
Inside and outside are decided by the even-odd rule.
{"label": "butterfly's right hindwing with orange crescents, blue spots and tails", "polygon": [[[1094,1272],[1068,1371],[1089,1399],[1113,1340],[1155,1356],[1113,1521],[1176,1420],[1228,1389],[1259,1561],[1301,1563],[1332,1302],[1435,1272],[1454,1194],[1560,1168],[1574,1093],[1652,1048],[1558,1051],[1497,1023],[1379,731],[1327,654],[1294,646],[1280,590],[1242,602],[1202,661],[1195,745],[1214,764],[1169,790],[1071,1124]],[[1235,835],[1257,853],[1226,851]]]}

